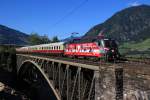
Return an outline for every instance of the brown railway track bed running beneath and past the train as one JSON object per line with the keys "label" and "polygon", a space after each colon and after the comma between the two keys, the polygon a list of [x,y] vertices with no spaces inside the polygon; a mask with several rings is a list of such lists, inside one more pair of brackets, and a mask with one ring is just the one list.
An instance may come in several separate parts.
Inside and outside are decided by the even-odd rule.
{"label": "brown railway track bed running beneath and past the train", "polygon": [[81,64],[95,65],[95,66],[112,66],[114,64],[117,64],[120,66],[134,66],[138,64],[150,65],[150,59],[126,58],[124,60],[115,60],[111,62],[106,62],[103,59],[95,60],[95,59],[67,58],[67,57],[61,57],[61,56],[47,56],[47,55],[32,55],[32,56],[51,58],[51,59],[56,59],[56,60],[64,60],[64,61],[70,61],[70,62],[81,63]]}

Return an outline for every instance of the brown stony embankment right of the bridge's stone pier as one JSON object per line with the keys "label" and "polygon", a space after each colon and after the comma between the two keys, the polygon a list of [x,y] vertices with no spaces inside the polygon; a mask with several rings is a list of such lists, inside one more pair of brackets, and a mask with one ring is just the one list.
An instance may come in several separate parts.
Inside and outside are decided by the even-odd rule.
{"label": "brown stony embankment right of the bridge's stone pier", "polygon": [[149,65],[124,67],[124,100],[150,100]]}

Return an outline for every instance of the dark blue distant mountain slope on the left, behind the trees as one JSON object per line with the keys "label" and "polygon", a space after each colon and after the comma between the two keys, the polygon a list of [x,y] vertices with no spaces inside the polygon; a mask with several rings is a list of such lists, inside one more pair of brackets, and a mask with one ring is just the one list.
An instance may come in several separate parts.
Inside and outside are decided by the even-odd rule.
{"label": "dark blue distant mountain slope on the left, behind the trees", "polygon": [[0,44],[27,44],[28,35],[20,31],[0,25]]}

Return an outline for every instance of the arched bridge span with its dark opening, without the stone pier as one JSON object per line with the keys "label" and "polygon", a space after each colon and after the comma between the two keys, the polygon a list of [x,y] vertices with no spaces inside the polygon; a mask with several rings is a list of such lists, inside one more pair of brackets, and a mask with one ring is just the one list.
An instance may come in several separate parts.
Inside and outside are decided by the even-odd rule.
{"label": "arched bridge span with its dark opening, without the stone pier", "polygon": [[18,54],[17,72],[36,100],[95,99],[97,67]]}

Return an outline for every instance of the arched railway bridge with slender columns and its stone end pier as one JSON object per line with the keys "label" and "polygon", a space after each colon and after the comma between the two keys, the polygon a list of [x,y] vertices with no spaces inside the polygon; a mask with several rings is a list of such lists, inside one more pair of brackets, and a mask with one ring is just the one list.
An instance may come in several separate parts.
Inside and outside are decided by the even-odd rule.
{"label": "arched railway bridge with slender columns and its stone end pier", "polygon": [[39,73],[55,100],[123,100],[123,68],[17,54],[20,79],[38,84]]}

